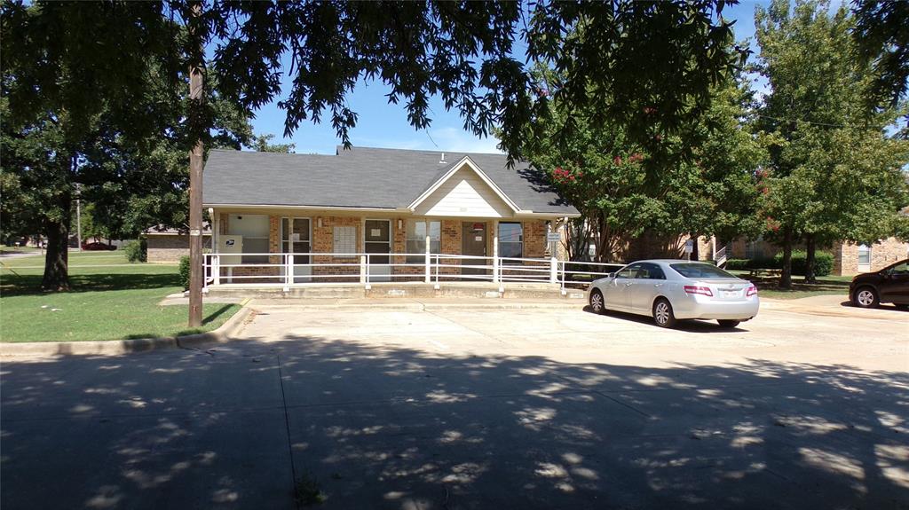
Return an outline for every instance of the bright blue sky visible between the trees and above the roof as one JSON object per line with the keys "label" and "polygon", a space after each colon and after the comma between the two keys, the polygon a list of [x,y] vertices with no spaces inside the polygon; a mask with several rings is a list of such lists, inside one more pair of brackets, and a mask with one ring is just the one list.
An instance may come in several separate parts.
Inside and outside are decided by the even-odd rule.
{"label": "bright blue sky visible between the trees and above the roof", "polygon": [[[724,17],[736,20],[734,30],[737,40],[754,36],[754,7],[767,3],[743,0],[739,5],[724,9]],[[284,89],[288,89],[286,84]],[[359,113],[357,125],[350,132],[354,145],[451,152],[498,152],[494,138],[480,139],[473,133],[465,132],[458,113],[445,112],[445,107],[438,99],[430,103],[432,125],[427,130],[416,131],[407,122],[404,107],[388,104],[385,93],[388,93],[388,89],[383,83],[360,83],[354,93],[348,96],[348,103]],[[291,138],[283,139],[285,113],[276,103],[266,105],[256,113],[253,126],[257,134],[271,133],[275,134],[273,142],[295,143],[296,152],[335,153],[335,146],[340,140],[331,123],[304,122]]]}

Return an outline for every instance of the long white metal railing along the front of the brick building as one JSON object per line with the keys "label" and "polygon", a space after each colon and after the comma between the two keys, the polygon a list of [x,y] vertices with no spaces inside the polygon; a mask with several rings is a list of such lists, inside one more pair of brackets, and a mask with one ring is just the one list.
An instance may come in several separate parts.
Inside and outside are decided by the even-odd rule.
{"label": "long white metal railing along the front of the brick building", "polygon": [[329,282],[369,289],[388,281],[430,283],[438,289],[444,281],[485,281],[500,284],[500,291],[501,284],[511,282],[558,284],[563,292],[623,266],[447,253],[205,253],[204,264],[205,289],[238,284],[289,289]]}

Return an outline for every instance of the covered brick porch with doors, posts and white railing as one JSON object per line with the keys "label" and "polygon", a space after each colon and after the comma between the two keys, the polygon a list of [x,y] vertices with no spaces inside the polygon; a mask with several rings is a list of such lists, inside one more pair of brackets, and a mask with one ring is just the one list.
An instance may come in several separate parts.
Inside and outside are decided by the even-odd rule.
{"label": "covered brick porch with doors, posts and white railing", "polygon": [[547,234],[557,232],[555,218],[261,212],[215,211],[215,251],[205,254],[206,287],[558,280],[560,243],[547,242]]}

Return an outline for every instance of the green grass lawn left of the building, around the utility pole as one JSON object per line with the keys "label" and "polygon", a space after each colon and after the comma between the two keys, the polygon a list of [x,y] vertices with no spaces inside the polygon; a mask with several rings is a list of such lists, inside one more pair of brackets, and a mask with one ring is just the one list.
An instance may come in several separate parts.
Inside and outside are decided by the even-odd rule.
{"label": "green grass lawn left of the building, around the utility pole", "polygon": [[176,266],[100,266],[102,260],[105,264],[127,263],[122,255],[102,258],[111,255],[116,254],[70,253],[69,292],[40,290],[44,257],[4,260],[5,268],[0,270],[0,341],[173,337],[216,329],[240,309],[235,304],[205,304],[203,326],[189,329],[185,305],[157,305],[167,294],[183,290]]}

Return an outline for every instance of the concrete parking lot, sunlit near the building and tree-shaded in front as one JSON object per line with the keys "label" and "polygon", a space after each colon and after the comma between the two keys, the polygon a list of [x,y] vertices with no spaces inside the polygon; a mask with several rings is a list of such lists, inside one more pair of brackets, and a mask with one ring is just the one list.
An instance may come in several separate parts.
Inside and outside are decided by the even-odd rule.
{"label": "concrete parking lot, sunlit near the building and tree-shaded in front", "polygon": [[0,504],[909,508],[907,313],[413,305],[260,302],[227,344],[5,359]]}

